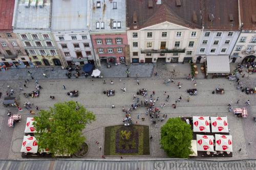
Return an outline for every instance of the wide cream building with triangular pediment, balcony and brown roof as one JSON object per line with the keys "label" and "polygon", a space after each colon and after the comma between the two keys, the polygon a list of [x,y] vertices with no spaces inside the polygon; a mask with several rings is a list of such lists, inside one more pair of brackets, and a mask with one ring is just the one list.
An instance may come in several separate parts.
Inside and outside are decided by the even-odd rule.
{"label": "wide cream building with triangular pediment, balcony and brown roof", "polygon": [[201,34],[200,1],[126,3],[132,63],[192,61]]}

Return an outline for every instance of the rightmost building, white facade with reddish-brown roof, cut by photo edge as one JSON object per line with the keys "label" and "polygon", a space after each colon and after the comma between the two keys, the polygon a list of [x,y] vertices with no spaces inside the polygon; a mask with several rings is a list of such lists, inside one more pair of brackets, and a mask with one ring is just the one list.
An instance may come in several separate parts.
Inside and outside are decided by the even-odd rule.
{"label": "rightmost building, white facade with reddish-brown roof, cut by photo edge", "polygon": [[232,62],[245,63],[255,61],[256,56],[256,1],[239,1],[240,26],[242,32],[233,48]]}

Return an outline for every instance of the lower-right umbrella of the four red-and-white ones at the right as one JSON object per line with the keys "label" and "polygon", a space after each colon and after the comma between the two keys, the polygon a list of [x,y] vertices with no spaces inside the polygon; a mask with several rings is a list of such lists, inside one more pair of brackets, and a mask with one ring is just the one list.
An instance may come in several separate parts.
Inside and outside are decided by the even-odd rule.
{"label": "lower-right umbrella of the four red-and-white ones at the right", "polygon": [[232,136],[215,134],[215,150],[232,152]]}

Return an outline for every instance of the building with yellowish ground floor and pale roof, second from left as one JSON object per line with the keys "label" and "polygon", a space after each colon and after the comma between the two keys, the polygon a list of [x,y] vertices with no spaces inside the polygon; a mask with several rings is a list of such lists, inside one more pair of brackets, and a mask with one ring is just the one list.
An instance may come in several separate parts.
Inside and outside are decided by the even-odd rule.
{"label": "building with yellowish ground floor and pale roof, second from left", "polygon": [[13,32],[36,66],[63,65],[50,30],[51,3],[50,0],[15,2]]}

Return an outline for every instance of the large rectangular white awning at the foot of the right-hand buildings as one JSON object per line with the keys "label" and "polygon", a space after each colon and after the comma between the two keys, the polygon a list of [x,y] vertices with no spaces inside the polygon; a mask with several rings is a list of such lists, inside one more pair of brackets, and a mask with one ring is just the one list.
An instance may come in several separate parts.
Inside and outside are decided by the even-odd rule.
{"label": "large rectangular white awning at the foot of the right-hand buildings", "polygon": [[207,56],[207,73],[229,73],[229,57],[222,56]]}

